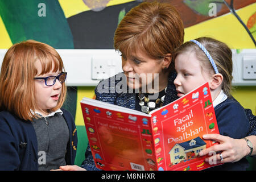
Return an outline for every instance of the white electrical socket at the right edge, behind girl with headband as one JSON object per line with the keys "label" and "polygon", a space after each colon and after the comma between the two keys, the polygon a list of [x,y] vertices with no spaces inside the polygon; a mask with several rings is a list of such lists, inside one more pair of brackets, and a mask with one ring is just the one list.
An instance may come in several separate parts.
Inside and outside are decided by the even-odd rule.
{"label": "white electrical socket at the right edge, behind girl with headband", "polygon": [[256,56],[243,56],[243,80],[256,80]]}

